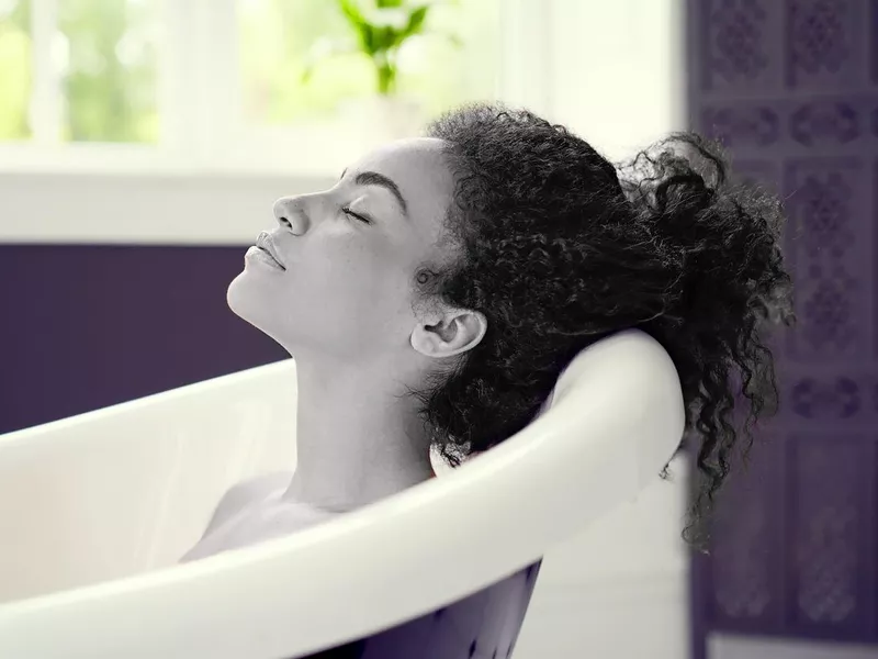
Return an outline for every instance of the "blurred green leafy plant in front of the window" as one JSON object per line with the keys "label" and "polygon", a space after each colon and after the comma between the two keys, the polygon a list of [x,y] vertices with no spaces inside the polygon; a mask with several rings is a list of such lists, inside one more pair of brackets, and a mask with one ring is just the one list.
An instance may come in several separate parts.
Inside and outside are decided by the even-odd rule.
{"label": "blurred green leafy plant in front of the window", "polygon": [[[390,96],[396,90],[398,75],[397,55],[409,38],[424,35],[427,15],[438,2],[409,2],[407,0],[368,0],[368,9],[357,0],[336,0],[339,10],[351,26],[356,38],[342,43],[319,43],[305,66],[303,79],[313,74],[325,58],[359,53],[369,58],[375,69],[376,91]],[[454,35],[444,35],[459,45]],[[322,47],[320,47],[322,46]]]}

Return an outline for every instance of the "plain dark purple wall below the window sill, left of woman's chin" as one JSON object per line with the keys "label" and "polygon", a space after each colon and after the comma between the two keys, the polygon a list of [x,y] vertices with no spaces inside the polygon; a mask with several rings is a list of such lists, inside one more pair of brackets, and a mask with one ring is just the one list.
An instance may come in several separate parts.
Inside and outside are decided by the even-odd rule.
{"label": "plain dark purple wall below the window sill, left of woman's chin", "polygon": [[226,306],[244,252],[0,245],[0,433],[286,357]]}

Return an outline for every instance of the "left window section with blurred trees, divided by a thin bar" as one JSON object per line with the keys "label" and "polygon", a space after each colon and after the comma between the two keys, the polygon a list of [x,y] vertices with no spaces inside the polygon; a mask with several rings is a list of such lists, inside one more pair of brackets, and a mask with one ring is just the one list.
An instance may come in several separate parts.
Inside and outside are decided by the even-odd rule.
{"label": "left window section with blurred trees, divided by a thin bar", "polygon": [[158,141],[155,0],[2,0],[0,137]]}

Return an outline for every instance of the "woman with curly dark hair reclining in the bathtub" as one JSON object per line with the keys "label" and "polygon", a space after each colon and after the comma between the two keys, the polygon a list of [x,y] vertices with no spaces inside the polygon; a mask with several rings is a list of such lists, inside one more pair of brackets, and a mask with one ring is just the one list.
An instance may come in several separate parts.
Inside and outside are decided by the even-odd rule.
{"label": "woman with curly dark hair reclining in the bathtub", "polygon": [[780,205],[732,186],[696,135],[620,172],[530,112],[465,107],[274,215],[228,303],[295,356],[297,468],[233,488],[184,560],[429,479],[430,447],[452,465],[491,448],[579,350],[628,327],[674,359],[701,443],[689,539],[776,403],[764,330],[793,319]]}

